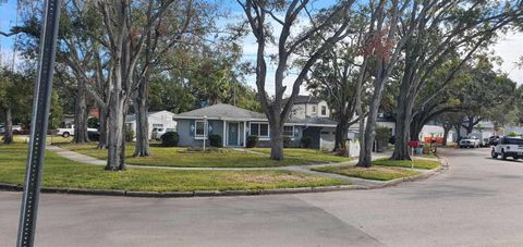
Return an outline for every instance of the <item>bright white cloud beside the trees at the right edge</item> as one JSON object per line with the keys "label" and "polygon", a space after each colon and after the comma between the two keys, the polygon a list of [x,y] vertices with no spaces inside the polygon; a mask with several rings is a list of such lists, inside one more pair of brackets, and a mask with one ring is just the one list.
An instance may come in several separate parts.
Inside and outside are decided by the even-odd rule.
{"label": "bright white cloud beside the trees at the right edge", "polygon": [[523,70],[518,69],[514,62],[523,55],[523,33],[509,33],[496,46],[494,51],[503,63],[497,67],[509,73],[509,77],[518,84],[523,84]]}

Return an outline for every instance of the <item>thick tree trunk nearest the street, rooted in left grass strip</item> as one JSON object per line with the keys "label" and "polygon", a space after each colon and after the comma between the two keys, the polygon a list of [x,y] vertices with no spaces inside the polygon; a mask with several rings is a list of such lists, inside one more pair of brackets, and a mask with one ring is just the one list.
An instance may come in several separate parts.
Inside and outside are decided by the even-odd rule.
{"label": "thick tree trunk nearest the street, rooted in left grass strip", "polygon": [[108,158],[106,170],[124,170],[124,114],[126,99],[121,89],[114,89],[109,103]]}

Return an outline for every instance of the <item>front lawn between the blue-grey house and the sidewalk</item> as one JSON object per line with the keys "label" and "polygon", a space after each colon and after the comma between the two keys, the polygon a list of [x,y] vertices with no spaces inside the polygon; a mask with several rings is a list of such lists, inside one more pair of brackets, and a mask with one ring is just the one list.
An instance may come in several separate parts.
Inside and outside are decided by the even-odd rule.
{"label": "front lawn between the blue-grey house and the sidewalk", "polygon": [[[60,145],[72,151],[84,153],[98,159],[107,159],[107,150],[99,150],[95,144],[89,145]],[[134,144],[125,146],[125,162],[129,164],[158,165],[158,166],[192,166],[192,168],[266,168],[287,166],[319,163],[319,159],[309,157],[287,156],[283,161],[270,160],[269,155],[258,155],[221,148],[214,152],[186,152],[186,148],[151,147],[151,157],[134,158]],[[320,153],[321,155],[321,153]],[[327,156],[327,155],[321,155]],[[332,157],[339,158],[339,157]]]}

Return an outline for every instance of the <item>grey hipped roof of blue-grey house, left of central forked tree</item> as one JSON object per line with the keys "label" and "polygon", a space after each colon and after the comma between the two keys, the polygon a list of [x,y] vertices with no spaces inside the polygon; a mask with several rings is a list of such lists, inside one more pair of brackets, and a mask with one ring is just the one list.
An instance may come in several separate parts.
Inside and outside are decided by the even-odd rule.
{"label": "grey hipped roof of blue-grey house, left of central forked tree", "polygon": [[241,119],[241,120],[265,120],[267,119],[264,113],[245,110],[243,108],[234,107],[227,103],[212,104],[209,107],[196,109],[180,113],[174,119],[202,119],[207,116],[208,119]]}

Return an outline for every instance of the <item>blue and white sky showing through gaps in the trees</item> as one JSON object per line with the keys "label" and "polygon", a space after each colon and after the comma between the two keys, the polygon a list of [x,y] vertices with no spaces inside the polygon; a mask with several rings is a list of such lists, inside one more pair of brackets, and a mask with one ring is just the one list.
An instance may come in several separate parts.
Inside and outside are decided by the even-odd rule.
{"label": "blue and white sky showing through gaps in the trees", "polygon": [[[220,1],[220,0],[218,0]],[[2,2],[2,0],[0,0]],[[236,3],[235,0],[223,0],[226,2],[223,8],[230,9],[231,14],[235,17],[241,17],[243,14],[241,7]],[[335,2],[333,0],[318,0],[315,3],[315,8],[323,8],[326,5],[330,5]],[[228,4],[227,4],[228,3]],[[15,23],[16,16],[16,0],[7,0],[7,3],[0,4],[0,30],[9,32],[11,26]],[[276,27],[276,26],[275,26]],[[0,45],[1,45],[1,54],[3,62],[11,61],[12,59],[12,44],[14,38],[5,38],[0,36]],[[256,40],[252,35],[248,35],[243,40],[243,60],[255,62],[256,58]],[[518,34],[507,34],[504,35],[500,41],[492,47],[495,53],[499,55],[503,63],[498,66],[497,69],[509,73],[509,77],[516,82],[518,84],[523,84],[523,70],[518,69],[514,66],[514,62],[518,61],[518,58],[523,55],[523,33]],[[276,52],[276,47],[269,47],[268,52]],[[273,71],[275,66],[269,66],[268,71],[268,82],[267,82],[267,91],[272,95],[273,94]],[[295,73],[291,71],[289,75],[284,79],[285,85],[291,85],[293,79],[296,77]],[[247,84],[252,87],[255,87],[255,75],[247,76]],[[288,88],[291,88],[289,86]],[[290,94],[288,91],[287,94]],[[302,87],[301,94],[306,94],[305,89]]]}

